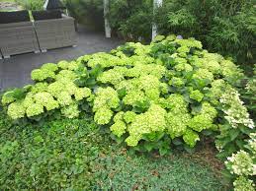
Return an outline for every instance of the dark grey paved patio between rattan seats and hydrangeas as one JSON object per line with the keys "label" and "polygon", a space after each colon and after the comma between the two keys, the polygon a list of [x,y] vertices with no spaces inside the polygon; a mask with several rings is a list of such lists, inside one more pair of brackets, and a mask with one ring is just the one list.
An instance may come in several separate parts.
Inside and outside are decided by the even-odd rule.
{"label": "dark grey paved patio between rattan seats and hydrangeas", "polygon": [[23,87],[32,83],[31,71],[43,63],[56,63],[60,60],[72,60],[85,54],[110,51],[122,44],[117,38],[106,38],[104,33],[92,32],[79,27],[77,47],[65,47],[48,50],[45,53],[28,53],[0,60],[0,90]]}

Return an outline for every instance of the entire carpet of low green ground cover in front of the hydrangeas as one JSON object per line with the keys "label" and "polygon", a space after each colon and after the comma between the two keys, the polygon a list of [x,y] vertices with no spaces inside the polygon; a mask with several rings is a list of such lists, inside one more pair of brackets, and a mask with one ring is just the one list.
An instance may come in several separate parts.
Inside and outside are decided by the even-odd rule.
{"label": "entire carpet of low green ground cover in front of the hydrangeas", "polygon": [[227,190],[212,147],[134,154],[102,130],[88,118],[12,124],[0,111],[0,190]]}

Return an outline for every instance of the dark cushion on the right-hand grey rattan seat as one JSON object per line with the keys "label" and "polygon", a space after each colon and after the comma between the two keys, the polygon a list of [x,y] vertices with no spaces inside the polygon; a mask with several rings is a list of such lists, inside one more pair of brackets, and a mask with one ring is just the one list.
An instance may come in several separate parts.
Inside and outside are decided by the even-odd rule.
{"label": "dark cushion on the right-hand grey rattan seat", "polygon": [[60,10],[33,11],[32,15],[35,21],[59,19],[61,18],[61,11]]}

